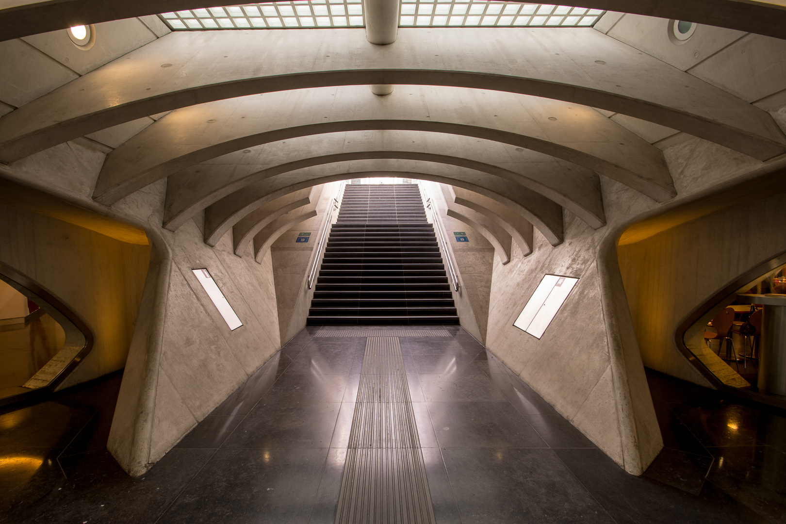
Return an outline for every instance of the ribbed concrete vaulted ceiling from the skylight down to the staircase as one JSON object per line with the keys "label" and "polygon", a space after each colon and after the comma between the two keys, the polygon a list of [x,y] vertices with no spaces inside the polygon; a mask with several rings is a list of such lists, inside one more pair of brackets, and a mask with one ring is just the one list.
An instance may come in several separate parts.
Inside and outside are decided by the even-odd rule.
{"label": "ribbed concrete vaulted ceiling from the skylight down to the staircase", "polygon": [[[514,240],[531,252],[533,225],[559,244],[563,209],[603,226],[600,175],[676,196],[663,153],[594,107],[757,159],[786,152],[762,109],[591,28],[366,36],[171,33],[0,119],[0,160],[168,112],[108,154],[94,200],[166,178],[167,229],[204,211],[207,244],[231,229],[236,255],[252,239],[259,255],[313,216],[325,182],[422,178],[451,186],[448,211],[507,262]],[[367,84],[396,87],[377,97]]]}

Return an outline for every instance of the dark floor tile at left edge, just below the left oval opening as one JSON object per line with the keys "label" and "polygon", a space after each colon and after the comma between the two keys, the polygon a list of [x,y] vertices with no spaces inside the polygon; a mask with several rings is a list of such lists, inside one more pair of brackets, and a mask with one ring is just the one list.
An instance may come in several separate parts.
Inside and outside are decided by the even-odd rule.
{"label": "dark floor tile at left edge, just below the left oval opening", "polygon": [[0,447],[24,445],[63,448],[97,413],[89,406],[75,407],[46,401],[0,415]]}

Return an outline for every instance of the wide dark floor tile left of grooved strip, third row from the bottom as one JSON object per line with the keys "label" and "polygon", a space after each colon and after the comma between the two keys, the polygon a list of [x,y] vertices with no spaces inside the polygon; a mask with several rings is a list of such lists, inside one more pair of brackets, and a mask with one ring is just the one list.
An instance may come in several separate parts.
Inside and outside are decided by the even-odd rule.
{"label": "wide dark floor tile left of grooved strip, third row from the bottom", "polygon": [[263,397],[266,402],[340,402],[349,375],[284,373]]}

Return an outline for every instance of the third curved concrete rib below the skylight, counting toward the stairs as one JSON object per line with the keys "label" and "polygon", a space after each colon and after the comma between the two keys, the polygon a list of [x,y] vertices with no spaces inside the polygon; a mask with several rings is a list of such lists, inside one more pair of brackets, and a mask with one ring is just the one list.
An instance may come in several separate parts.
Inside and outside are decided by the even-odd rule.
{"label": "third curved concrete rib below the skylight, counting toward the stairs", "polygon": [[[241,164],[244,161],[242,157],[246,156],[241,153],[230,156],[226,159],[227,163],[200,164],[168,179],[163,224],[174,231],[204,207],[256,181],[304,167],[362,159],[423,160],[465,167],[521,185],[524,191],[531,193],[534,203],[553,201],[571,210],[595,229],[605,224],[600,180],[597,174],[589,170],[534,153],[521,158],[522,155],[515,150],[512,153],[518,157],[516,161],[508,158],[505,162],[504,157],[494,158],[494,153],[505,154],[505,148],[465,137],[457,139],[438,135],[442,140],[424,147],[422,143],[407,140],[414,137],[411,135],[399,134],[399,140],[391,137],[391,140],[384,141],[386,144],[380,144],[376,135],[367,136],[365,138],[368,139],[364,140],[364,137],[358,138],[353,134],[351,144],[343,147],[345,152],[310,157],[306,155],[311,151],[320,151],[318,146],[324,143],[318,140],[321,138],[319,136],[307,137],[296,141],[294,145],[281,144],[279,147],[285,148],[285,152],[272,159],[266,158],[272,160],[271,163],[253,163],[252,158],[250,163]],[[329,138],[343,143],[341,136]],[[381,148],[382,145],[387,145],[387,148]]]}

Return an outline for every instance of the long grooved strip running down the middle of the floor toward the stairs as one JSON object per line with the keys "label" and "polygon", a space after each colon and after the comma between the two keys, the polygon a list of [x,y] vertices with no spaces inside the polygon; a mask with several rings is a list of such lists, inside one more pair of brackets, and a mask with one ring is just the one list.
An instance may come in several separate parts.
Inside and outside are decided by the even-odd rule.
{"label": "long grooved strip running down the middle of the floor toward the stairs", "polygon": [[399,339],[369,337],[336,524],[433,524]]}

